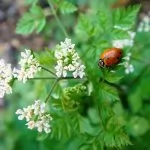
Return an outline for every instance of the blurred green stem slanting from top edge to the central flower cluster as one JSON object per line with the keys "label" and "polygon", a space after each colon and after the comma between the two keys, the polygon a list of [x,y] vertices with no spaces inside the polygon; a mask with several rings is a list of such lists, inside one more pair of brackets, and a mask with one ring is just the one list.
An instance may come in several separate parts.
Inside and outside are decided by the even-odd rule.
{"label": "blurred green stem slanting from top edge to the central flower cluster", "polygon": [[68,37],[68,34],[67,34],[67,32],[66,32],[64,26],[62,25],[60,19],[58,18],[57,14],[56,14],[56,11],[55,11],[54,6],[53,6],[53,3],[52,3],[52,0],[48,0],[48,3],[49,3],[49,5],[50,5],[50,7],[51,7],[52,13],[53,13],[53,15],[54,15],[54,17],[55,17],[55,19],[56,19],[56,21],[57,21],[57,23],[58,23],[60,29],[62,30],[62,32],[64,33],[64,35],[65,35],[66,37]]}

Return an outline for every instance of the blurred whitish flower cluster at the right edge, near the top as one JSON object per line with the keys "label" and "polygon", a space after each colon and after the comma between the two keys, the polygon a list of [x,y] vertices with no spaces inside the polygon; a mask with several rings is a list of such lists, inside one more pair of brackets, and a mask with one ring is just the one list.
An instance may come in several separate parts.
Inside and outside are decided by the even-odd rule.
{"label": "blurred whitish flower cluster at the right edge, near the top", "polygon": [[145,15],[142,21],[139,23],[138,32],[149,32],[150,31],[150,12]]}

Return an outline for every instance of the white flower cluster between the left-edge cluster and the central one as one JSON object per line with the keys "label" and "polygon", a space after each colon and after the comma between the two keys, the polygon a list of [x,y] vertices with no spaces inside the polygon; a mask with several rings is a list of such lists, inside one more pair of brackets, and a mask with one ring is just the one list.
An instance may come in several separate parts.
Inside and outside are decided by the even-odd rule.
{"label": "white flower cluster between the left-edge cluster and the central one", "polygon": [[33,78],[34,75],[41,70],[38,61],[34,58],[31,51],[26,49],[21,52],[21,59],[19,61],[20,69],[14,69],[14,77],[19,81],[25,83],[27,79]]}

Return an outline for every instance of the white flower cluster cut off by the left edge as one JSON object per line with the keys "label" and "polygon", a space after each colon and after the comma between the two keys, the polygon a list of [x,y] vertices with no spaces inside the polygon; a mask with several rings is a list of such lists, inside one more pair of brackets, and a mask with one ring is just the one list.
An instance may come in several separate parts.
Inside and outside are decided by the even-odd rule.
{"label": "white flower cluster cut off by the left edge", "polygon": [[12,79],[12,70],[10,64],[5,64],[3,59],[0,59],[0,98],[4,97],[4,94],[12,93],[12,88],[9,85]]}

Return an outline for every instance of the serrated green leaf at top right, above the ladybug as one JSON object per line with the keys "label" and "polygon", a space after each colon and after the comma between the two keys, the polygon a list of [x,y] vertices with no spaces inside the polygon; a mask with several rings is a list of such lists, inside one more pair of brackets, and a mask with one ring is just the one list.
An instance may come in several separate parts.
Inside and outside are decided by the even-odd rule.
{"label": "serrated green leaf at top right, above the ladybug", "polygon": [[128,8],[116,9],[114,12],[115,26],[122,28],[132,28],[135,24],[137,13],[140,9],[140,5],[134,5]]}

